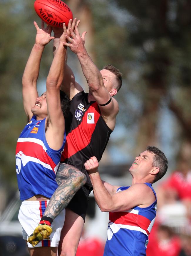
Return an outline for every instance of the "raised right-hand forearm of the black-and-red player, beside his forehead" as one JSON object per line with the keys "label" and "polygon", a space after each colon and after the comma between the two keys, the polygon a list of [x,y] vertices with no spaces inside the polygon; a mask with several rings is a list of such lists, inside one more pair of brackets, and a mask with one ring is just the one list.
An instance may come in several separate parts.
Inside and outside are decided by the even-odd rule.
{"label": "raised right-hand forearm of the black-and-red player, beside his forehead", "polygon": [[99,89],[103,78],[100,71],[88,55],[86,49],[84,48],[83,52],[78,53],[77,56],[81,64],[83,74],[86,77],[89,89],[92,91]]}

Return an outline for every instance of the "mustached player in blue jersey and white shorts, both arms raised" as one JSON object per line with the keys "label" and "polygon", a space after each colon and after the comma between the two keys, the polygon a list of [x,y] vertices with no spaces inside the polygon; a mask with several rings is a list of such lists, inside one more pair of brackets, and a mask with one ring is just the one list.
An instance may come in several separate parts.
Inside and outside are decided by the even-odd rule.
{"label": "mustached player in blue jersey and white shorts, both arms raised", "polygon": [[[74,22],[76,23],[76,20]],[[23,200],[19,221],[23,227],[23,238],[28,240],[30,255],[56,256],[65,210],[54,219],[52,228],[46,225],[49,224],[48,220],[44,220],[38,226],[38,231],[41,231],[38,232],[38,237],[33,230],[43,216],[48,200],[58,187],[56,172],[66,142],[64,115],[69,112],[70,100],[65,95],[61,102],[60,86],[66,55],[63,43],[66,41],[67,30],[63,25],[64,32],[59,39],[59,46],[46,80],[46,92],[38,96],[36,82],[42,53],[45,45],[54,37],[51,36],[52,28],[48,25],[44,28],[42,22],[41,29],[36,22],[34,25],[37,30],[36,40],[22,79],[24,110],[29,122],[16,145],[16,173],[20,198]],[[75,192],[74,189],[73,194]],[[36,241],[31,242],[31,233],[32,241]],[[33,248],[36,242],[39,243]]]}

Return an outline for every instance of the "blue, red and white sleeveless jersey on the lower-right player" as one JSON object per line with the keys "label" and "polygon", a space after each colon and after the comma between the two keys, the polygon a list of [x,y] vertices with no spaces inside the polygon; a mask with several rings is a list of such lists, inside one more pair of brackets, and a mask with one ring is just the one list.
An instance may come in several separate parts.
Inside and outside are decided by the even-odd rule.
{"label": "blue, red and white sleeveless jersey on the lower-right player", "polygon": [[[156,193],[151,183],[145,183]],[[119,187],[117,192],[128,189]],[[146,255],[148,236],[153,227],[157,210],[157,200],[150,206],[138,206],[121,212],[110,212],[104,256]]]}

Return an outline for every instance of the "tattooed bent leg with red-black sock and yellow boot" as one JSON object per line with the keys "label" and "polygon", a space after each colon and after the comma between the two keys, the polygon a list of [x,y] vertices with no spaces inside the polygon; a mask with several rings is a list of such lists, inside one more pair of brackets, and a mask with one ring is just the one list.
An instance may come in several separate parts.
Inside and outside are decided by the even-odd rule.
{"label": "tattooed bent leg with red-black sock and yellow boot", "polygon": [[43,239],[48,239],[52,233],[52,221],[66,208],[75,193],[86,183],[86,175],[71,165],[60,164],[56,182],[58,187],[53,193],[38,227],[28,239],[33,247]]}

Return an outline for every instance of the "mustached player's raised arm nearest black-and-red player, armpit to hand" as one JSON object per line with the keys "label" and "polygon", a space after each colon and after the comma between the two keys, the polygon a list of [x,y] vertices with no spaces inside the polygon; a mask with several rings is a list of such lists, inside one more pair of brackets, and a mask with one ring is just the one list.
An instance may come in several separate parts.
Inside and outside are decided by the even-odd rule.
{"label": "mustached player's raised arm nearest black-and-red player, armpit to hand", "polygon": [[48,111],[46,140],[48,145],[55,150],[61,148],[65,132],[64,116],[60,100],[60,86],[63,81],[64,60],[66,56],[66,46],[63,45],[67,33],[65,24],[63,24],[63,28],[63,34],[59,39],[59,46],[46,80],[46,102]]}

